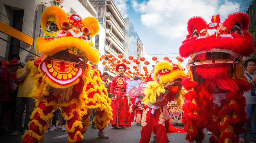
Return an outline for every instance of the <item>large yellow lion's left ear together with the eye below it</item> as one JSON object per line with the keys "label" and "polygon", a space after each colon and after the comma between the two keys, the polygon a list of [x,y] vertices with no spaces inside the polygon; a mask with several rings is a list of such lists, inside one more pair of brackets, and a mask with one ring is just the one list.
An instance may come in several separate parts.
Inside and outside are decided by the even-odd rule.
{"label": "large yellow lion's left ear together with the eye below it", "polygon": [[[43,28],[43,33],[48,35],[55,34],[62,29],[61,24],[67,20],[68,16],[61,8],[56,6],[45,8],[41,16],[41,26]],[[57,28],[54,26],[57,26]]]}

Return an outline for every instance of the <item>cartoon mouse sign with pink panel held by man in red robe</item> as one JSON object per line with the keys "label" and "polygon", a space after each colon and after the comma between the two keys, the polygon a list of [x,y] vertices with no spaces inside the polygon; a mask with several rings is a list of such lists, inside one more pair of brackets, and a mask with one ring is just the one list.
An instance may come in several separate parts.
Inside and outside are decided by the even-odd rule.
{"label": "cartoon mouse sign with pink panel held by man in red robe", "polygon": [[126,94],[130,97],[138,96],[138,94],[144,94],[144,88],[147,87],[146,82],[141,82],[141,80],[125,80],[126,84]]}

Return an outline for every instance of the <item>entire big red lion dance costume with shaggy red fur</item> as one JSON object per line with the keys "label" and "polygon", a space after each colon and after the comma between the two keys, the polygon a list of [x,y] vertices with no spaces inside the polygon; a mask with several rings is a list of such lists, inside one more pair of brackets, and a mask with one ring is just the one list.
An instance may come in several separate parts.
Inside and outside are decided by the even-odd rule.
{"label": "entire big red lion dance costume with shaggy red fur", "polygon": [[213,132],[211,143],[237,143],[245,132],[243,93],[252,86],[245,79],[242,56],[254,51],[248,24],[249,17],[242,12],[229,15],[223,23],[219,15],[209,24],[201,17],[188,21],[188,35],[179,52],[191,57],[189,75],[182,80],[190,90],[182,119],[189,142],[201,142],[203,128]]}

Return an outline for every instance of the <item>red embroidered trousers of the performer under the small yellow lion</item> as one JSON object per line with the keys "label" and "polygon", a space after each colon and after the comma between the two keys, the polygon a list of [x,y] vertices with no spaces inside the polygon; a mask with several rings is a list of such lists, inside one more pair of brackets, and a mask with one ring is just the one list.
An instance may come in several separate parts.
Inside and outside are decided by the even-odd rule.
{"label": "red embroidered trousers of the performer under the small yellow lion", "polygon": [[154,115],[151,114],[151,110],[152,109],[147,105],[143,110],[140,128],[141,138],[139,143],[149,143],[153,128],[153,119],[156,120],[157,143],[168,143],[165,121],[162,112],[163,107],[156,109]]}

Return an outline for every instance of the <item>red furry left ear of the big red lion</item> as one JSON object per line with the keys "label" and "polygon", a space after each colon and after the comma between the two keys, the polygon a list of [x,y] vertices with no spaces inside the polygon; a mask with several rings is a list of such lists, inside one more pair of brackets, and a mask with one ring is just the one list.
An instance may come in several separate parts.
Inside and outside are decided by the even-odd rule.
{"label": "red furry left ear of the big red lion", "polygon": [[197,33],[200,33],[202,29],[206,28],[206,25],[207,23],[202,17],[195,16],[190,18],[187,22],[188,35],[186,37],[190,38],[195,30],[197,30]]}

